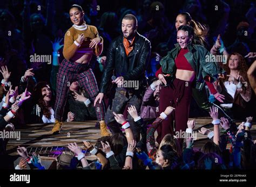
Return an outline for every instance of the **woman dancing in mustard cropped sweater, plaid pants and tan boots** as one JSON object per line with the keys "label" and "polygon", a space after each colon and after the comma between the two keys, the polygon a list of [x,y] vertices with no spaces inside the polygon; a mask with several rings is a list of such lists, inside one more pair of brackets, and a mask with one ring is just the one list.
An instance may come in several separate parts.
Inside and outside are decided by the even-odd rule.
{"label": "woman dancing in mustard cropped sweater, plaid pants and tan boots", "polygon": [[[63,55],[65,59],[59,67],[57,75],[57,90],[55,102],[55,126],[53,134],[59,133],[62,127],[62,117],[64,107],[68,98],[69,85],[73,81],[78,81],[90,99],[94,102],[98,94],[98,85],[89,68],[89,62],[93,54],[99,56],[103,49],[103,39],[98,36],[95,26],[86,25],[83,19],[84,11],[79,5],[72,5],[69,11],[70,19],[74,24],[65,34]],[[88,105],[90,100],[86,100]],[[100,133],[102,136],[110,135],[107,132],[104,121],[104,104],[96,105],[97,119],[100,123]]]}

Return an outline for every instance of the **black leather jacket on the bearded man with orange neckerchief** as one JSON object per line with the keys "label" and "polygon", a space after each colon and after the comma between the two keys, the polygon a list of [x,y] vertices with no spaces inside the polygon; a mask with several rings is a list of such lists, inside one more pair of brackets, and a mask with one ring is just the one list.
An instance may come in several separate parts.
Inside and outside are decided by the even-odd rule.
{"label": "black leather jacket on the bearded man with orange neckerchief", "polygon": [[150,41],[137,31],[133,50],[128,56],[126,56],[123,45],[123,35],[114,39],[107,52],[106,67],[99,92],[106,93],[107,83],[111,80],[112,75],[123,76],[125,81],[138,80],[140,85],[145,80],[145,70],[149,64],[150,52]]}

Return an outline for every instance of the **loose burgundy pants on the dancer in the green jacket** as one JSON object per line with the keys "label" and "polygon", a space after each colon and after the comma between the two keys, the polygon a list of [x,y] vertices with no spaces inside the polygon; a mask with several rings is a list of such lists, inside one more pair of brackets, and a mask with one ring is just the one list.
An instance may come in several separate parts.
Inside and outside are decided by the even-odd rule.
{"label": "loose burgundy pants on the dancer in the green jacket", "polygon": [[[192,82],[175,78],[173,82],[162,87],[160,91],[159,112],[164,112],[167,106],[176,110],[165,119],[157,128],[157,142],[160,143],[166,134],[174,134],[180,130],[186,131],[190,102],[192,97]],[[173,121],[175,120],[175,127]],[[183,139],[179,139],[182,144]]]}

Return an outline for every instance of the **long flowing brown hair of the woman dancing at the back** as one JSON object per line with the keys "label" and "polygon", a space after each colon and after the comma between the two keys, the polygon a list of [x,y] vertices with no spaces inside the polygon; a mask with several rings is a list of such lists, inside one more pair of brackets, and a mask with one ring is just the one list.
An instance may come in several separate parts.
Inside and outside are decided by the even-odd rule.
{"label": "long flowing brown hair of the woman dancing at the back", "polygon": [[194,30],[194,39],[193,39],[194,43],[205,46],[209,28],[206,25],[203,25],[197,21],[194,21],[191,18],[190,13],[188,12],[181,12],[178,15],[184,16],[187,23],[190,22],[190,26]]}

